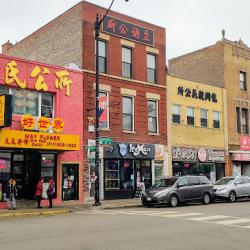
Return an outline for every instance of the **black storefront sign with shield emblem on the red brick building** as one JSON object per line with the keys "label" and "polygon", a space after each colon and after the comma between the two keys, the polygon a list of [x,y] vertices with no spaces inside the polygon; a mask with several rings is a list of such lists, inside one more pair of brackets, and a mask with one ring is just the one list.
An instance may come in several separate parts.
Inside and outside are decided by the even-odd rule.
{"label": "black storefront sign with shield emblem on the red brick building", "polygon": [[153,144],[128,144],[113,142],[113,150],[105,149],[105,158],[127,158],[127,159],[154,159],[155,145]]}

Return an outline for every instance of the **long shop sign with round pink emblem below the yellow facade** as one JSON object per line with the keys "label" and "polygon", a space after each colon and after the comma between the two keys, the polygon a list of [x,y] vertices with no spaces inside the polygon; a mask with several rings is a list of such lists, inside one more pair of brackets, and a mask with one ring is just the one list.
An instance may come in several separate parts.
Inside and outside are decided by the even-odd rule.
{"label": "long shop sign with round pink emblem below the yellow facade", "polygon": [[225,162],[225,151],[204,148],[173,147],[173,161],[187,162]]}

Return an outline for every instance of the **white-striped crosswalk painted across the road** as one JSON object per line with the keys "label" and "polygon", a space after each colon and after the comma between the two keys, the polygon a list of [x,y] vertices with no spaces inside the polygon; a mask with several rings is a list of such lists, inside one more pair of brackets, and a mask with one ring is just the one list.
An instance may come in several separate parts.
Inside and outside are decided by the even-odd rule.
{"label": "white-striped crosswalk painted across the road", "polygon": [[156,216],[161,218],[183,219],[196,222],[213,223],[223,226],[233,226],[250,229],[250,218],[240,218],[229,215],[218,214],[204,214],[198,212],[186,212],[180,211],[156,211],[156,210],[95,210],[95,214],[105,215],[139,215],[139,216]]}

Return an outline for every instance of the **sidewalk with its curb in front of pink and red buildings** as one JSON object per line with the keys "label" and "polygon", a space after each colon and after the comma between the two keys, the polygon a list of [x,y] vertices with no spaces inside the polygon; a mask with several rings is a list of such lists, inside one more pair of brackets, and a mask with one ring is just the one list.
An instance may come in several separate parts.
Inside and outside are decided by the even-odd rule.
{"label": "sidewalk with its curb in front of pink and red buildings", "polygon": [[75,211],[84,209],[119,209],[129,207],[140,207],[141,200],[126,199],[126,200],[105,200],[101,202],[102,205],[95,207],[93,206],[94,201],[87,201],[84,204],[74,204],[72,202],[65,203],[61,206],[49,208],[20,208],[17,210],[0,209],[0,220],[4,218],[21,218],[28,216],[54,216],[60,214],[68,214]]}

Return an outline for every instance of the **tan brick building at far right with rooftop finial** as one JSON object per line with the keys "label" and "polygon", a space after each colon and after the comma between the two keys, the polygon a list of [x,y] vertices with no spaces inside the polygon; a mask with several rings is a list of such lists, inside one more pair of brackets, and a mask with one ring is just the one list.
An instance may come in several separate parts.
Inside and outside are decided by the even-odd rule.
{"label": "tan brick building at far right with rooftop finial", "polygon": [[250,175],[250,48],[226,38],[169,61],[170,74],[224,87],[227,92],[229,158],[227,174]]}

